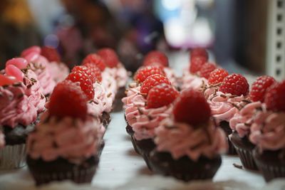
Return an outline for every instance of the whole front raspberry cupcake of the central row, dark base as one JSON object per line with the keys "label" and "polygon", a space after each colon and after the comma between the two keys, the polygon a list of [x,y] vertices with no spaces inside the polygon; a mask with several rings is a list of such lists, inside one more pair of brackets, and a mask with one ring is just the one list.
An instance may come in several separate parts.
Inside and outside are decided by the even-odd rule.
{"label": "whole front raspberry cupcake of the central row, dark base", "polygon": [[156,148],[148,160],[152,171],[183,181],[212,179],[227,143],[210,115],[202,93],[183,90],[174,103],[174,118],[162,120],[155,129]]}

